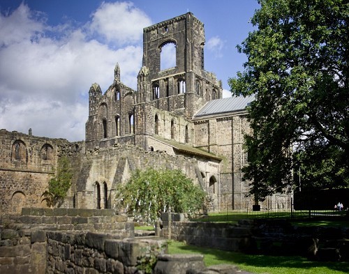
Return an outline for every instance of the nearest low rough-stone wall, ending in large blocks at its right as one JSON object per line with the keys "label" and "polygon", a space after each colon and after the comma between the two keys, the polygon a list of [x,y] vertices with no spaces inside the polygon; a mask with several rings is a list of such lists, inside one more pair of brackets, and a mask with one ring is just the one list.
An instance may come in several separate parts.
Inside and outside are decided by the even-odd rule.
{"label": "nearest low rough-stone wall, ending in large blocks at its right", "polygon": [[166,250],[166,241],[150,238],[47,231],[46,273],[140,273]]}

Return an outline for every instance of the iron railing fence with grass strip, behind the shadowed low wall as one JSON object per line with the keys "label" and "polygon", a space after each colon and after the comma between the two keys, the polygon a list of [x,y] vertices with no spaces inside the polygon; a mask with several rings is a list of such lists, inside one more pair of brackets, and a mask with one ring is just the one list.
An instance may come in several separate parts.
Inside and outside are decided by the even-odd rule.
{"label": "iron railing fence with grass strip, behind the shadowed low wall", "polygon": [[[236,209],[239,208],[239,209]],[[309,206],[309,208],[311,208]],[[192,220],[206,222],[235,222],[240,219],[290,219],[327,220],[346,216],[348,210],[339,211],[336,208],[325,210],[304,209],[295,210],[293,199],[285,199],[281,202],[265,200],[255,205],[253,201],[242,204],[232,204],[223,201],[219,204],[205,206],[200,214],[193,216]]]}

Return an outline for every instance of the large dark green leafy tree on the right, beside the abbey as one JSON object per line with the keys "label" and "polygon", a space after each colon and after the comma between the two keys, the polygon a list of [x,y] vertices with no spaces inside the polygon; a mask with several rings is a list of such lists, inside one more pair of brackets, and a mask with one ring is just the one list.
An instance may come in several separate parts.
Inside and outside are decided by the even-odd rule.
{"label": "large dark green leafy tree on the right, beside the abbey", "polygon": [[[348,0],[260,0],[229,79],[235,96],[255,95],[246,136],[251,194],[348,187]],[[293,187],[293,188],[292,188]]]}

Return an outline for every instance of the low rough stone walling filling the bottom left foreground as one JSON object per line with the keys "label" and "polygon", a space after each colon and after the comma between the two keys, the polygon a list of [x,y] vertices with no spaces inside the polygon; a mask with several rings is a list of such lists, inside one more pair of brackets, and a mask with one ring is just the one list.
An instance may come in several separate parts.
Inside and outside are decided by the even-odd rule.
{"label": "low rough stone walling filling the bottom left foreground", "polygon": [[127,274],[154,267],[167,242],[135,238],[126,220],[113,210],[65,208],[1,215],[0,273]]}

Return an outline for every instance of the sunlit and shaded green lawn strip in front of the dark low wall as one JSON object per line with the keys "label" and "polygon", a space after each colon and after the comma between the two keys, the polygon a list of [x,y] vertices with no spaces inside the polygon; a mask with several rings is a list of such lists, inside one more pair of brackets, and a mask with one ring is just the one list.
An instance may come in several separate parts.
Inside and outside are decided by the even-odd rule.
{"label": "sunlit and shaded green lawn strip in front of the dark low wall", "polygon": [[199,248],[170,241],[170,254],[203,254],[206,266],[234,264],[242,271],[263,274],[344,274],[349,273],[349,262],[308,261],[304,257],[251,255],[226,252],[212,248]]}

